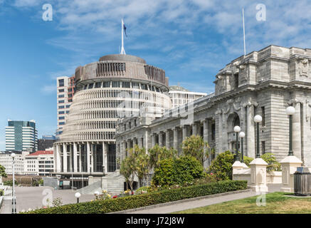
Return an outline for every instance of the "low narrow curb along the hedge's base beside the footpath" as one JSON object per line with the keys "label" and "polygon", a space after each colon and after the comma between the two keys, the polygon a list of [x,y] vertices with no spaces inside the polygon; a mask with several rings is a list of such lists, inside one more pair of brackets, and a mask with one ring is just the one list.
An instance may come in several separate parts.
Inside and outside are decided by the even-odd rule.
{"label": "low narrow curb along the hedge's base beside the footpath", "polygon": [[200,200],[200,199],[209,199],[209,198],[214,198],[214,197],[222,197],[224,195],[235,195],[235,194],[243,193],[243,192],[252,192],[252,190],[251,189],[246,189],[246,190],[238,190],[238,191],[233,191],[233,192],[223,192],[223,193],[218,193],[218,194],[214,194],[214,195],[206,195],[206,196],[203,196],[203,197],[181,199],[181,200],[176,200],[176,201],[173,201],[173,202],[164,202],[162,204],[149,205],[149,206],[146,206],[146,207],[138,207],[138,208],[126,209],[126,210],[118,211],[118,212],[110,212],[110,213],[107,213],[107,214],[126,214],[126,213],[130,213],[130,212],[142,211],[142,210],[145,210],[145,209],[153,209],[153,208],[157,208],[157,207],[165,207],[165,206],[174,205],[174,204],[181,204],[183,202],[192,202],[192,201]]}

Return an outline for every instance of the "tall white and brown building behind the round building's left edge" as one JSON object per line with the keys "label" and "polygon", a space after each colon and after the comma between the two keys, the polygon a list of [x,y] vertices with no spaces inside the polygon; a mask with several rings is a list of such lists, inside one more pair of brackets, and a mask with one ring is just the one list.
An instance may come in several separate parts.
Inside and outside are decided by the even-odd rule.
{"label": "tall white and brown building behind the round building's left edge", "polygon": [[69,107],[73,102],[75,93],[75,76],[57,78],[57,130],[56,137],[63,133],[65,117],[69,113]]}

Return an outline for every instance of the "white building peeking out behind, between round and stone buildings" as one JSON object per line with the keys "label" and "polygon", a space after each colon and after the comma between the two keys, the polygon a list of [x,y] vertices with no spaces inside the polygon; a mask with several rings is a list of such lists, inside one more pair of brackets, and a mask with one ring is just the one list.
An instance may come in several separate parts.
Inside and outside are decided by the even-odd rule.
{"label": "white building peeking out behind, between round and stone buildings", "polygon": [[169,86],[169,98],[171,98],[172,101],[172,108],[184,105],[185,103],[194,101],[206,95],[207,93],[190,92],[181,86]]}

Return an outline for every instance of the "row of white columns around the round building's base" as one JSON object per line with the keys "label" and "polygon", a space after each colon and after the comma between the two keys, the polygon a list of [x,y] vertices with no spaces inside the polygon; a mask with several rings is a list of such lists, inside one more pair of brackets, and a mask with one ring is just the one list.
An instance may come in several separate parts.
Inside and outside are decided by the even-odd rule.
{"label": "row of white columns around the round building's base", "polygon": [[[72,172],[82,172],[82,148],[81,145],[86,146],[86,172],[94,172],[94,164],[95,164],[95,151],[93,151],[92,145],[98,145],[98,143],[86,142],[86,144],[78,144],[77,142],[73,143],[58,143],[56,145],[56,153],[54,153],[56,164],[54,165],[56,172],[61,172],[61,163],[63,157],[63,172],[68,172],[73,167]],[[67,150],[67,145],[73,145],[73,151]],[[63,153],[60,148],[63,147]],[[78,151],[78,147],[80,147]],[[73,157],[71,157],[73,154]],[[79,155],[79,162],[78,162]],[[68,168],[68,158],[70,159],[70,169]],[[73,164],[72,164],[73,162]],[[78,169],[79,164],[79,169]],[[102,142],[102,164],[105,165],[105,173],[107,173],[107,145],[106,142]]]}

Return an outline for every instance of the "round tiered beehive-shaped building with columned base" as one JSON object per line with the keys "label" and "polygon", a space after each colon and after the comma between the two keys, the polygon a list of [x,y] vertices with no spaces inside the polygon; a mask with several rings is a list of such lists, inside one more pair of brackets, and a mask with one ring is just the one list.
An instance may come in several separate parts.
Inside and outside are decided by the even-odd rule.
{"label": "round tiered beehive-shaped building with columned base", "polygon": [[89,176],[100,180],[114,172],[117,119],[139,116],[141,110],[157,114],[169,109],[168,82],[165,71],[137,56],[102,56],[78,67],[73,103],[54,143],[55,174],[81,187]]}

